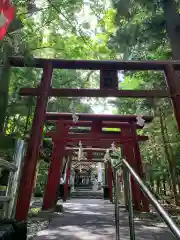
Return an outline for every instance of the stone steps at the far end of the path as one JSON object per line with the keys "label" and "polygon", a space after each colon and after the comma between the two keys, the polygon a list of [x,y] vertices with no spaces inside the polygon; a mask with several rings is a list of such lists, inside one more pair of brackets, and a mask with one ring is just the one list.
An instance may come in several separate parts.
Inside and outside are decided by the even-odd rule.
{"label": "stone steps at the far end of the path", "polygon": [[76,199],[103,199],[103,191],[94,192],[92,189],[76,188],[71,192],[71,198]]}

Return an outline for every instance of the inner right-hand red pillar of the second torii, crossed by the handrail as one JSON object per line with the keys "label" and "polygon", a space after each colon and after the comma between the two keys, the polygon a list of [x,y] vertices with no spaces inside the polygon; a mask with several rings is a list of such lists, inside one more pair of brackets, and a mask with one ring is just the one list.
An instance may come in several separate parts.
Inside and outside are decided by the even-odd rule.
{"label": "inner right-hand red pillar of the second torii, crossed by the handrail", "polygon": [[[131,136],[132,133],[130,129],[122,129],[122,136]],[[134,136],[135,138],[135,136]],[[133,145],[131,143],[124,143],[122,146],[124,157],[126,161],[136,170],[136,160],[134,158],[134,150]],[[133,203],[134,209],[137,211],[141,210],[141,191],[139,186],[135,183],[134,179],[131,177],[131,186],[132,186],[132,196],[133,196]],[[126,189],[125,189],[126,191]]]}

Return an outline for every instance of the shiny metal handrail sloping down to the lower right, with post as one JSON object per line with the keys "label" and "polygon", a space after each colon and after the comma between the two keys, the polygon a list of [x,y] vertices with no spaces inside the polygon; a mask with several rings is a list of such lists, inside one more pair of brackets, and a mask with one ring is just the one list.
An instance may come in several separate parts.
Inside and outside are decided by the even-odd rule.
{"label": "shiny metal handrail sloping down to the lower right, with post", "polygon": [[[128,210],[129,210],[129,226],[130,226],[130,239],[135,240],[135,231],[134,231],[134,220],[133,220],[133,207],[132,207],[132,189],[131,189],[131,180],[130,176],[133,177],[133,179],[136,181],[136,183],[140,186],[141,190],[144,192],[148,200],[151,202],[152,206],[156,209],[156,211],[159,213],[163,221],[166,223],[168,228],[170,229],[171,233],[177,238],[180,239],[180,229],[178,226],[174,223],[174,221],[170,218],[170,216],[166,213],[164,208],[159,204],[159,202],[156,200],[154,195],[151,193],[151,191],[146,187],[146,185],[143,183],[141,178],[138,176],[138,174],[134,171],[134,169],[129,165],[129,163],[122,159],[122,164],[117,164],[115,166],[115,169],[117,170],[120,166],[123,166],[125,170],[125,175],[127,179],[128,184]],[[116,238],[118,239],[118,238]]]}

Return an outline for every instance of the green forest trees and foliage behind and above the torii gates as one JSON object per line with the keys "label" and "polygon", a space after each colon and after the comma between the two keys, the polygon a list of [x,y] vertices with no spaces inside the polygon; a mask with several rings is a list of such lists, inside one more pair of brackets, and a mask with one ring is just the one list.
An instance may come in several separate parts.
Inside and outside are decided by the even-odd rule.
{"label": "green forest trees and foliage behind and above the torii gates", "polygon": [[[16,18],[0,42],[0,155],[9,161],[9,139],[28,137],[36,102],[20,98],[19,89],[36,87],[41,76],[35,68],[11,68],[9,56],[23,56],[27,62],[34,57],[180,60],[179,0],[16,0],[13,4]],[[99,72],[54,70],[52,85],[98,88]],[[166,83],[162,72],[120,71],[119,87],[166,89]],[[78,113],[154,116],[139,132],[149,136],[141,145],[146,181],[160,197],[172,197],[179,205],[180,135],[170,100],[50,98],[47,111],[69,112],[72,101]],[[37,195],[43,192],[48,165],[40,158]]]}

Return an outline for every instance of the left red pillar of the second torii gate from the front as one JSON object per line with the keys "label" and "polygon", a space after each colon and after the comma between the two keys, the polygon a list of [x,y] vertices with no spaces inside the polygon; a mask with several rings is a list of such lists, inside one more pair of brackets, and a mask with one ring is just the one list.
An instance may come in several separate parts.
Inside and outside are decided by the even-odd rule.
{"label": "left red pillar of the second torii gate from the front", "polygon": [[45,188],[43,209],[51,209],[56,202],[57,187],[60,181],[62,170],[63,155],[65,154],[65,141],[64,137],[68,135],[68,127],[60,121],[57,126],[57,132],[53,136],[53,154],[52,161],[48,172],[48,182]]}

